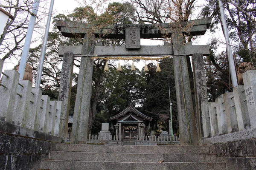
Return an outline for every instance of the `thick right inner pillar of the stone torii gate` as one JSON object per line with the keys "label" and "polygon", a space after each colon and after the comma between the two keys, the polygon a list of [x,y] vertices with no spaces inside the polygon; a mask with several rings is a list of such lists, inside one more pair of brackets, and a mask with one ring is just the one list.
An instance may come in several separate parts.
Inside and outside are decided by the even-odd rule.
{"label": "thick right inner pillar of the stone torii gate", "polygon": [[[197,133],[192,95],[189,83],[189,73],[186,61],[183,36],[180,32],[172,34],[173,65],[175,74],[175,88],[177,97],[177,109],[179,116],[180,144],[197,145]],[[190,64],[190,63],[189,63]]]}

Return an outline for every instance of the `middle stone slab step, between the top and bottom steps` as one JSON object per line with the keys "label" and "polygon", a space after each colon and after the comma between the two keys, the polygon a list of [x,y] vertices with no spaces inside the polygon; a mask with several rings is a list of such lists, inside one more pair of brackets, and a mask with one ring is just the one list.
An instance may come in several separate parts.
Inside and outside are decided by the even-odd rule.
{"label": "middle stone slab step, between the top and bottom steps", "polygon": [[217,162],[217,155],[204,153],[86,153],[52,151],[50,159],[106,162]]}

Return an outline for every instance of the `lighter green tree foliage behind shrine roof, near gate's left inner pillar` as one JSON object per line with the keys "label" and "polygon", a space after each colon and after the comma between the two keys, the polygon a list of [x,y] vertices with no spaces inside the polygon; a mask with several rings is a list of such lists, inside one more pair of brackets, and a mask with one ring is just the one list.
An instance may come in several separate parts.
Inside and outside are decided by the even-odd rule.
{"label": "lighter green tree foliage behind shrine roof, near gate's left inner pillar", "polygon": [[[102,77],[97,100],[95,121],[92,125],[92,133],[99,132],[99,122],[108,122],[109,117],[123,111],[130,103],[142,103],[145,91],[145,72],[131,71],[131,65],[122,65],[122,71],[109,64],[109,71]],[[103,121],[103,122],[102,122]]]}

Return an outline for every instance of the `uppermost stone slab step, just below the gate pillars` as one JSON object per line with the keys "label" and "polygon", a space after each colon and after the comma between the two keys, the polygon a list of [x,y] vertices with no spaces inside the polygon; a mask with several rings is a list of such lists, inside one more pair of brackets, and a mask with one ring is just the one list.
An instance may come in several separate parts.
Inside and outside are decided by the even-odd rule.
{"label": "uppermost stone slab step, just below the gate pillars", "polygon": [[56,150],[93,153],[209,153],[209,146],[57,144]]}

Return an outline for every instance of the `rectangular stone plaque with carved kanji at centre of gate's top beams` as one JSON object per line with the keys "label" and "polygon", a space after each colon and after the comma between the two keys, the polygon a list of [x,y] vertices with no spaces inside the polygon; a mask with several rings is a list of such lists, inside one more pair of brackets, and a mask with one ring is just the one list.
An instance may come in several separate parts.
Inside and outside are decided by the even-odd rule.
{"label": "rectangular stone plaque with carved kanji at centre of gate's top beams", "polygon": [[127,49],[140,48],[140,28],[125,28],[125,42]]}

